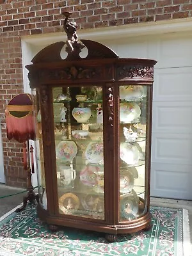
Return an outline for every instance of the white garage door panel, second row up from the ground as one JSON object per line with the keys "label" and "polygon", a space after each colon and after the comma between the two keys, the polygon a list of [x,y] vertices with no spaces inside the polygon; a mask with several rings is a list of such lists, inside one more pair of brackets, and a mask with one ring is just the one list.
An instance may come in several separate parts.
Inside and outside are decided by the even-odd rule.
{"label": "white garage door panel, second row up from the ground", "polygon": [[152,163],[192,164],[188,134],[152,133]]}

